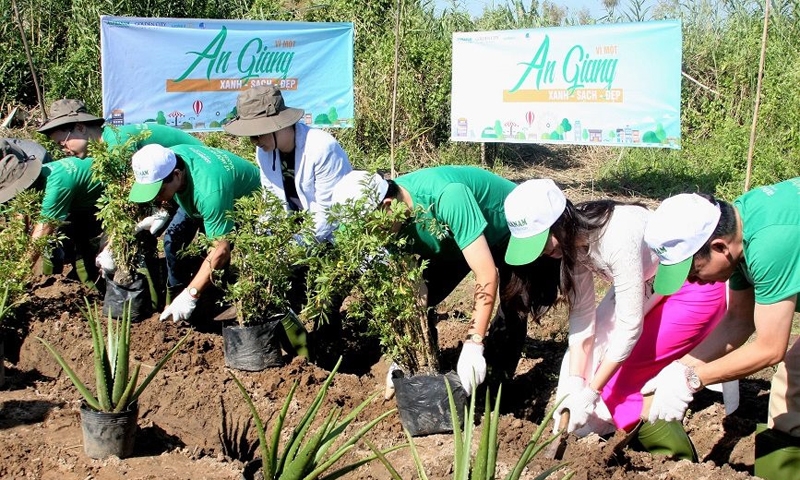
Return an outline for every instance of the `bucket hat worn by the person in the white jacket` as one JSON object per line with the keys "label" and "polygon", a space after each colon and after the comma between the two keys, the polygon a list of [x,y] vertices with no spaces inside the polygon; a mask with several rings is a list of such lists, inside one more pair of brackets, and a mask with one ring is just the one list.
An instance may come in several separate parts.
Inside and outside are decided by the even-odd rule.
{"label": "bucket hat worn by the person in the white jacket", "polygon": [[236,99],[236,117],[223,125],[226,132],[237,137],[253,137],[277,132],[303,118],[303,110],[289,108],[283,95],[274,85],[245,90]]}

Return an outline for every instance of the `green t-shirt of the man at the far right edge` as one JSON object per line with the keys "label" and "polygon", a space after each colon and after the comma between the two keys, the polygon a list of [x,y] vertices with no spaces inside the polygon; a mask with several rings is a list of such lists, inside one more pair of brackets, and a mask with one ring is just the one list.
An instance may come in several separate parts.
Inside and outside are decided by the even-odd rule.
{"label": "green t-shirt of the man at the far right edge", "polygon": [[753,287],[762,305],[800,292],[800,177],[751,190],[733,205],[742,218],[745,260],[730,287]]}

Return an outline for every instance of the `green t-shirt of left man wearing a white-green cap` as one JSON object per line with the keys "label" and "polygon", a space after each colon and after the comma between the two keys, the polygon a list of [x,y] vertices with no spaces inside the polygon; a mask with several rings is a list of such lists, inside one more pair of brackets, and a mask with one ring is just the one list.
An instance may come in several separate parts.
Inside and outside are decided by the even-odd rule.
{"label": "green t-shirt of left man wearing a white-green cap", "polygon": [[203,220],[208,238],[230,232],[233,221],[227,212],[233,210],[233,202],[261,188],[258,167],[219,148],[176,145],[171,150],[189,173],[175,201],[190,217]]}

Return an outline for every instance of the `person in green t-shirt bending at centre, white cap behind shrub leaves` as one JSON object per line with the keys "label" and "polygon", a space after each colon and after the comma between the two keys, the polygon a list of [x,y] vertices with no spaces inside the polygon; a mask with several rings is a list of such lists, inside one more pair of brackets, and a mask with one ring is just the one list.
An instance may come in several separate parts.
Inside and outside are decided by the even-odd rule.
{"label": "person in green t-shirt bending at centre, white cap behind shrub leaves", "polygon": [[[404,203],[409,212],[421,207],[421,218],[401,233],[412,240],[414,253],[429,262],[420,292],[428,306],[443,301],[470,271],[475,275],[472,321],[457,367],[464,390],[471,394],[483,382],[487,363],[493,371],[513,376],[527,336],[527,316],[501,304],[491,329],[489,324],[498,286],[504,288],[510,278],[504,256],[511,234],[503,202],[514,182],[467,166],[423,168],[393,181],[356,170],[337,184],[334,203],[360,198],[368,192],[365,185],[376,190],[382,208],[388,208],[393,199]],[[443,230],[430,231],[433,224]],[[435,328],[431,334],[435,335]]]}

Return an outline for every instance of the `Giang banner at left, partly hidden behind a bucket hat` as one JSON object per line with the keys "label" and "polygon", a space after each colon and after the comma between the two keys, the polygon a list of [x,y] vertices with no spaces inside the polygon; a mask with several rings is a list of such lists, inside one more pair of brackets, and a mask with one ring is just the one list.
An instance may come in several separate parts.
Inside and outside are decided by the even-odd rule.
{"label": "Giang banner at left, partly hidden behind a bucket hat", "polygon": [[353,24],[100,17],[103,115],[219,130],[236,97],[278,85],[317,127],[353,125]]}

